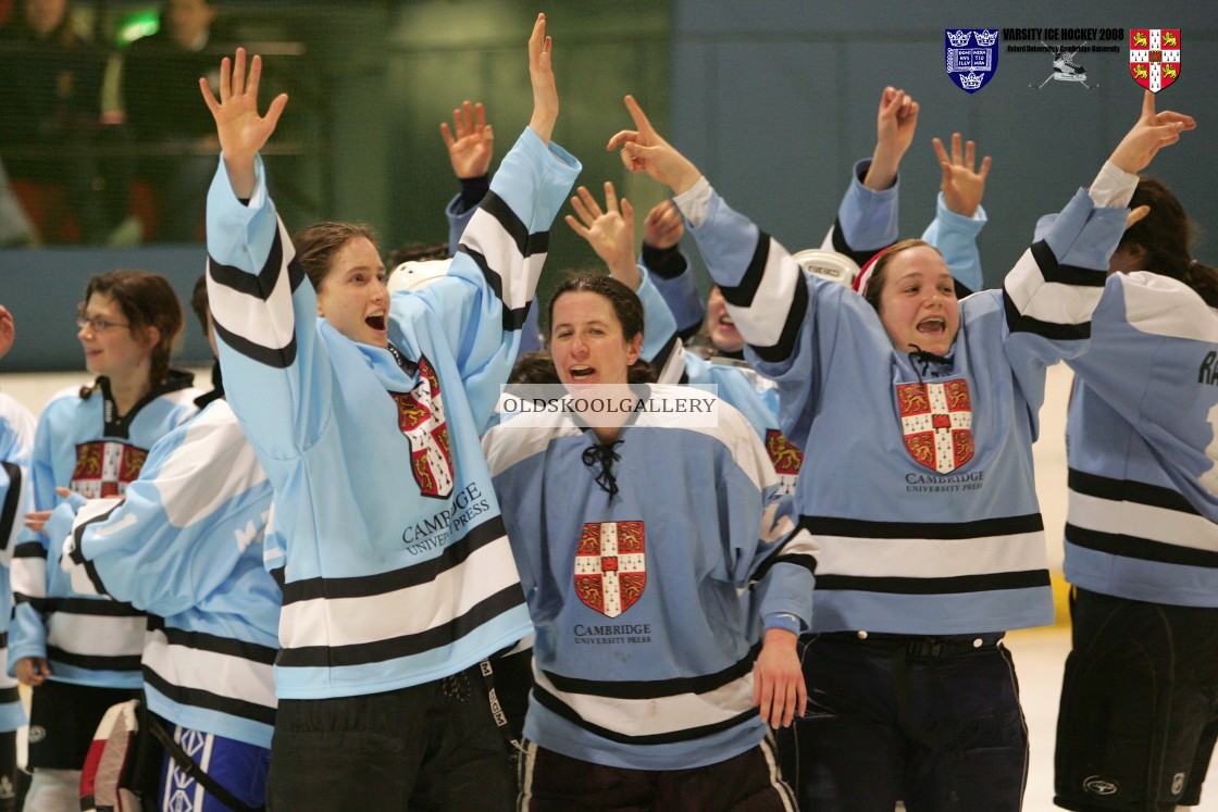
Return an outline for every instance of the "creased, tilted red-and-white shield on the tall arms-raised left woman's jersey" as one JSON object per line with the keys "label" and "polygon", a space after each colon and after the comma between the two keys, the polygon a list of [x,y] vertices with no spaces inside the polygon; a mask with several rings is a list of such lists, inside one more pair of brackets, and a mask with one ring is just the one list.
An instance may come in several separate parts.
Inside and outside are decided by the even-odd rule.
{"label": "creased, tilted red-and-white shield on the tall arms-raised left woman's jersey", "polygon": [[453,491],[453,458],[440,379],[426,358],[419,359],[419,382],[409,392],[390,392],[397,404],[397,426],[410,443],[410,471],[425,497],[447,499]]}

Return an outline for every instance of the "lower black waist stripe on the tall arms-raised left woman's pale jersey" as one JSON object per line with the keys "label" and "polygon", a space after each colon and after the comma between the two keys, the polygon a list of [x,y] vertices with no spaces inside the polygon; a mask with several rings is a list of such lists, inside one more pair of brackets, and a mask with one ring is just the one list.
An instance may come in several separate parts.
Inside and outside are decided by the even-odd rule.
{"label": "lower black waist stripe on the tall arms-raised left woman's pale jersey", "polygon": [[339,668],[425,654],[466,637],[504,612],[523,606],[524,603],[525,597],[520,584],[512,584],[479,601],[460,617],[425,632],[402,634],[375,643],[280,649],[275,665],[280,668]]}

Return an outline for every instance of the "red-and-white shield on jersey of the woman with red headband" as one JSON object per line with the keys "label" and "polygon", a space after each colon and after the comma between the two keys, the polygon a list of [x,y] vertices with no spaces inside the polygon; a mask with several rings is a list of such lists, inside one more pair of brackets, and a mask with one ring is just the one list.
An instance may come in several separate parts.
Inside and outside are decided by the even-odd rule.
{"label": "red-and-white shield on jersey of the woman with red headband", "polygon": [[973,407],[968,381],[900,383],[896,404],[910,457],[939,474],[973,458]]}

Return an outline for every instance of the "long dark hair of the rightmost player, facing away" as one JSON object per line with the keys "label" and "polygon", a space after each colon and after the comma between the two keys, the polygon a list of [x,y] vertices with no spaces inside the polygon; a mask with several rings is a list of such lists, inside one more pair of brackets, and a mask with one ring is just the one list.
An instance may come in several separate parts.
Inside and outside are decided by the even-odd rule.
{"label": "long dark hair of the rightmost player, facing away", "polygon": [[1155,178],[1141,178],[1130,208],[1150,206],[1150,214],[1125,229],[1122,248],[1140,247],[1142,269],[1191,287],[1209,307],[1218,307],[1218,270],[1192,258],[1195,229],[1170,189]]}

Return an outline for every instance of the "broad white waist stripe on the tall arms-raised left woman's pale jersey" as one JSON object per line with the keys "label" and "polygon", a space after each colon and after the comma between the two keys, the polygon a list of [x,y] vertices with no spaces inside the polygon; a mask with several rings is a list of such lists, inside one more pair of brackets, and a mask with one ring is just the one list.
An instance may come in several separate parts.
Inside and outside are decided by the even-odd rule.
{"label": "broad white waist stripe on the tall arms-raised left woman's pale jersey", "polygon": [[[471,583],[474,573],[479,577]],[[280,644],[285,649],[335,648],[419,634],[460,617],[519,582],[508,537],[501,536],[471,553],[462,566],[428,583],[380,595],[286,604],[279,620]],[[453,604],[452,595],[460,595],[460,601]]]}

